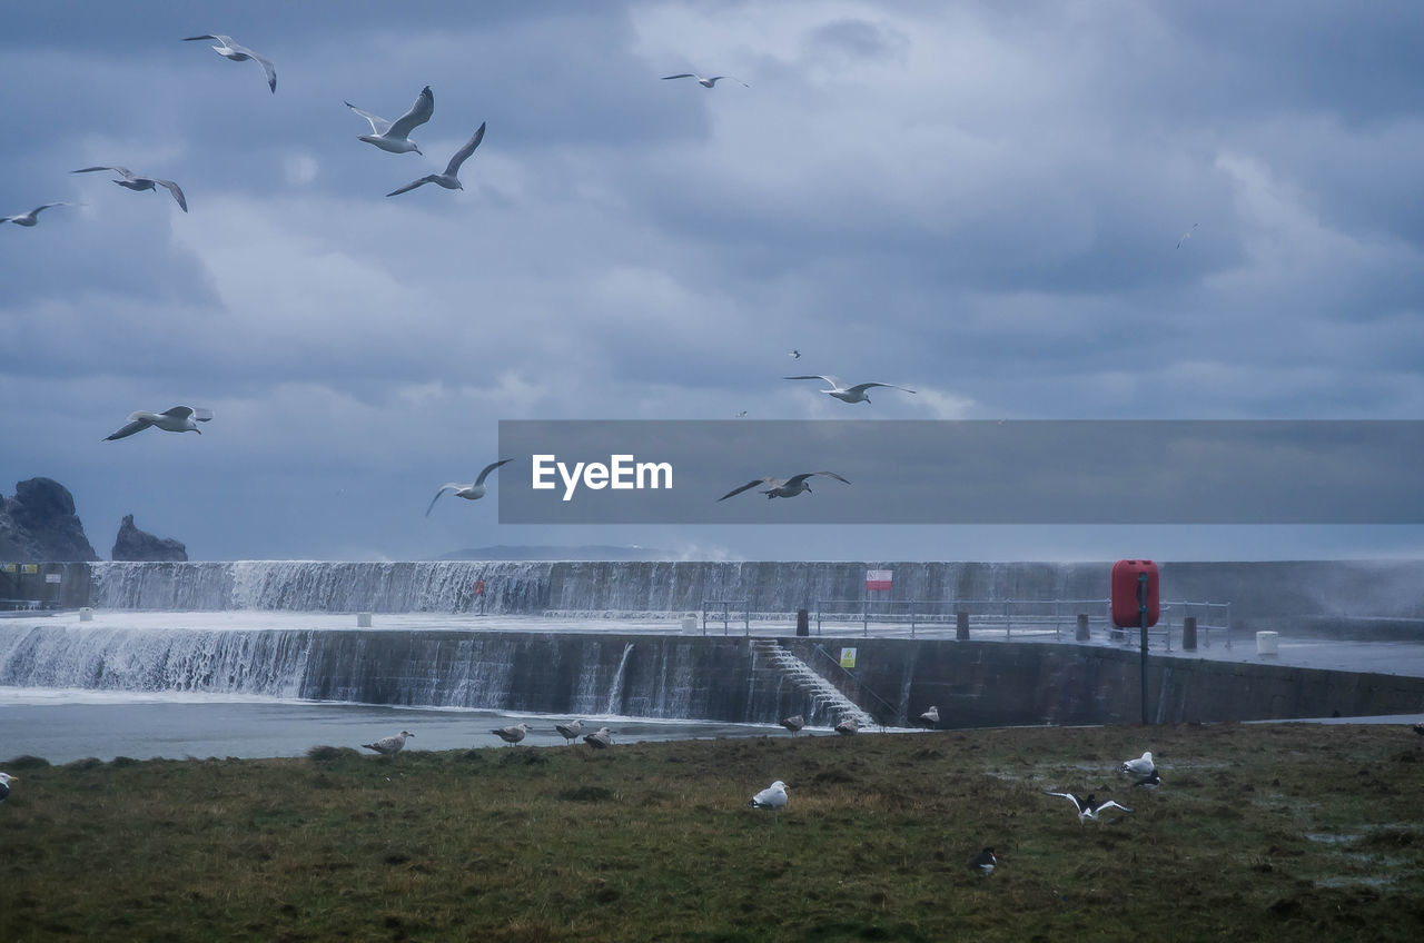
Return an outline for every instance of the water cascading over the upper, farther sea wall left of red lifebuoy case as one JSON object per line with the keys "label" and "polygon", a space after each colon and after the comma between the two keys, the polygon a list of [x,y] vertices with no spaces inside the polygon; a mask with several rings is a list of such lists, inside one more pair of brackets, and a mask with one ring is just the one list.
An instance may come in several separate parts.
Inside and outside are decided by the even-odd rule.
{"label": "water cascading over the upper, farther sea wall left of red lifebuoy case", "polygon": [[[678,615],[706,600],[759,614],[864,598],[867,568],[894,571],[876,600],[1101,598],[1104,564],[413,561],[91,564],[95,608],[490,615]],[[486,585],[484,597],[474,591]]]}

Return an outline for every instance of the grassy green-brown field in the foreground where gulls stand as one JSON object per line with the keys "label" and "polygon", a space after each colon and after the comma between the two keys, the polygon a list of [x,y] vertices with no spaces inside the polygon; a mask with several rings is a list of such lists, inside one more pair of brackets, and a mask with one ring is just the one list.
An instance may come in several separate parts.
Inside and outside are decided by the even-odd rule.
{"label": "grassy green-brown field in the foreground where gulls stand", "polygon": [[[1143,749],[1165,785],[1132,795],[1115,771]],[[1424,939],[1405,726],[0,769],[7,942]],[[786,812],[745,808],[773,779]],[[1135,812],[1079,826],[1047,788]]]}

